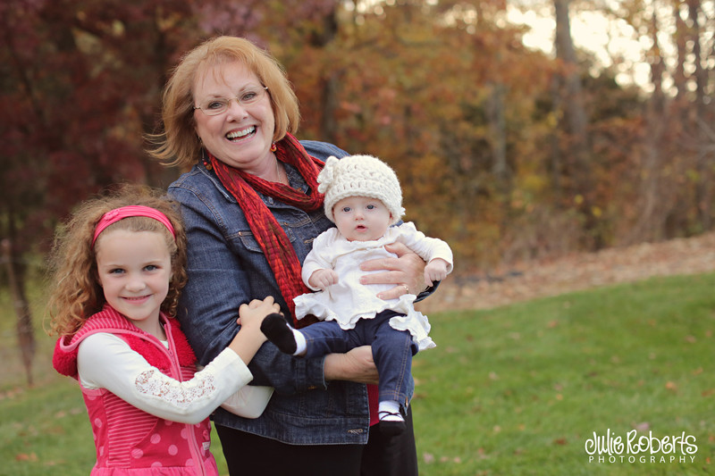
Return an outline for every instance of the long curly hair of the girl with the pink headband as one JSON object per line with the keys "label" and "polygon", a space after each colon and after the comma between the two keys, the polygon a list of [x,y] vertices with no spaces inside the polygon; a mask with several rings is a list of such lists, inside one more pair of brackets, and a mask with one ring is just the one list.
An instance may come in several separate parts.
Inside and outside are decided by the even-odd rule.
{"label": "long curly hair of the girl with the pink headband", "polygon": [[124,218],[109,225],[105,231],[157,231],[164,235],[172,257],[172,280],[161,309],[170,316],[176,315],[179,295],[187,281],[186,234],[178,206],[160,193],[154,188],[125,185],[114,193],[83,202],[72,213],[70,220],[60,226],[49,256],[51,292],[47,314],[50,317],[50,335],[74,335],[92,314],[104,307],[105,294],[99,285],[97,255],[92,240],[102,216],[127,205],[150,206],[164,213],[172,222],[175,239],[164,224],[147,217]]}

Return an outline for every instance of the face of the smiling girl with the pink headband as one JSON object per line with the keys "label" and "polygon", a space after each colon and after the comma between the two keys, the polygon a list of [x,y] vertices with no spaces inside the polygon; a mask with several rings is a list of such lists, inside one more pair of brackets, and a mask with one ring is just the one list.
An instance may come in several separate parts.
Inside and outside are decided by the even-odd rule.
{"label": "face of the smiling girl with the pink headband", "polygon": [[139,329],[164,338],[159,310],[172,279],[172,258],[164,234],[106,230],[95,246],[106,302]]}

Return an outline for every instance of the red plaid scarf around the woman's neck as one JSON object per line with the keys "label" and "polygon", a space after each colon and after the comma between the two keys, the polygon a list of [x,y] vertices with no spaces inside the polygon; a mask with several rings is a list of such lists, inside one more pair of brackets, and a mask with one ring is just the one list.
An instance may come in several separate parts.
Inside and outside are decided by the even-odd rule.
{"label": "red plaid scarf around the woman's neck", "polygon": [[296,167],[306,180],[308,195],[282,183],[263,180],[256,175],[231,167],[206,152],[219,180],[231,192],[246,216],[248,226],[271,266],[295,326],[305,327],[313,321],[302,319],[299,325],[295,318],[293,298],[309,293],[311,290],[300,277],[300,262],[295,249],[290,245],[290,239],[257,192],[272,196],[286,205],[296,206],[305,212],[313,212],[323,206],[324,196],[318,192],[317,183],[318,172],[323,168],[323,163],[308,155],[298,139],[290,134],[275,146],[275,156],[278,160]]}

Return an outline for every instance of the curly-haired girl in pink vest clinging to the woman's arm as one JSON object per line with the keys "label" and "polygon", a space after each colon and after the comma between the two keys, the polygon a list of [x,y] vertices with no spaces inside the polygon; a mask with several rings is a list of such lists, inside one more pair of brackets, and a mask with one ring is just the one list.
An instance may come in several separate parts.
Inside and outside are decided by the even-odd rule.
{"label": "curly-haired girl in pink vest clinging to the woman's arm", "polygon": [[53,264],[53,364],[80,382],[97,447],[91,474],[218,474],[208,415],[253,379],[246,365],[265,342],[261,320],[279,310],[273,298],[242,305],[229,348],[196,372],[172,319],[186,283],[184,231],[146,188],[80,205]]}

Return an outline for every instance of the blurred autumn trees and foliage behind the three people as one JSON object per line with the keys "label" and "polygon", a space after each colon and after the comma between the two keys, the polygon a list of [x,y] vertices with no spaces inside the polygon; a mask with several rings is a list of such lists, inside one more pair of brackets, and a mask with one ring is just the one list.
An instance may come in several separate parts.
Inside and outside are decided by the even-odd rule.
{"label": "blurred autumn trees and foliage behind the three people", "polygon": [[203,39],[270,50],[298,137],[391,163],[469,274],[712,229],[714,23],[712,0],[4,0],[0,288],[28,379],[55,227],[178,177],[143,137]]}

